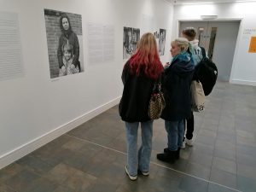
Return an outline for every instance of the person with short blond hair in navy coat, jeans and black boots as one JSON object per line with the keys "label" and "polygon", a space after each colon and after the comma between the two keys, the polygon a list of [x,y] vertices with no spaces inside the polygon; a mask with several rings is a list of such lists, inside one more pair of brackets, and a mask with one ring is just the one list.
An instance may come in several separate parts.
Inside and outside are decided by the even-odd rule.
{"label": "person with short blond hair in navy coat, jeans and black boots", "polygon": [[157,154],[157,159],[171,163],[179,158],[183,145],[184,122],[191,111],[190,84],[195,66],[188,48],[189,41],[186,38],[172,41],[172,61],[169,66],[165,66],[162,80],[166,108],[161,118],[165,119],[168,143],[164,153]]}

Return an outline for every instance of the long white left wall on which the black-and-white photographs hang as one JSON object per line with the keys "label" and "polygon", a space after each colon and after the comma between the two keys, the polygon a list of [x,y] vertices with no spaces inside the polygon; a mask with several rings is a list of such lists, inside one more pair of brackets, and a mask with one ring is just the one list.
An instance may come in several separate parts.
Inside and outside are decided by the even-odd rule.
{"label": "long white left wall on which the black-and-white photographs hang", "polygon": [[[49,78],[44,9],[82,15],[84,73]],[[17,13],[25,77],[0,81],[0,168],[119,102],[123,85],[123,27],[167,29],[172,4],[163,0],[0,0],[0,11]],[[88,65],[88,22],[113,25],[115,61]],[[152,31],[154,32],[154,31]],[[169,44],[162,61],[169,59]]]}

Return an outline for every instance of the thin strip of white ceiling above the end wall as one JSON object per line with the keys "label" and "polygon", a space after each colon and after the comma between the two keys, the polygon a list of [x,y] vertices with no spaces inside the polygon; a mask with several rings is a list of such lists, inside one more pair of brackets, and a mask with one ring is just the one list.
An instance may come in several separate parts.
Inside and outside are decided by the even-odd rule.
{"label": "thin strip of white ceiling above the end wall", "polygon": [[174,4],[255,2],[254,0],[166,0],[166,1]]}

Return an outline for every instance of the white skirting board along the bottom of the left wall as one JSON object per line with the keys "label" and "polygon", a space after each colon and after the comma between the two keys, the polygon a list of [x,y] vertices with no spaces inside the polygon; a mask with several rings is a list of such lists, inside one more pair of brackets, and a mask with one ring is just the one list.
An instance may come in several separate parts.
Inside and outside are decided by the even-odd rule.
{"label": "white skirting board along the bottom of the left wall", "polygon": [[65,134],[68,131],[73,130],[79,125],[84,124],[84,122],[96,117],[100,113],[107,111],[109,108],[117,105],[120,101],[120,97],[113,99],[112,101],[103,104],[102,106],[91,110],[88,113],[84,113],[72,121],[67,122],[65,125],[61,125],[53,131],[49,131],[45,133],[43,136],[33,139],[32,141],[20,146],[19,148],[15,148],[7,154],[3,154],[0,156],[0,169],[4,166],[8,166],[9,164],[15,162],[15,160],[19,160],[26,154],[30,154],[32,151],[44,146],[46,143],[54,140],[57,137]]}

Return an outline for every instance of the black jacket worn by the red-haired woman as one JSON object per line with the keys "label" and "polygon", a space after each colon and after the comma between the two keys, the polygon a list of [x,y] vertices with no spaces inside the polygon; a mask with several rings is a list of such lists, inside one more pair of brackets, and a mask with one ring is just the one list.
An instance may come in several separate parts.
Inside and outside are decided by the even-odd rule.
{"label": "black jacket worn by the red-haired woman", "polygon": [[145,122],[148,117],[148,104],[153,90],[154,80],[145,75],[132,75],[129,61],[126,62],[122,81],[123,96],[119,103],[119,115],[127,122]]}

